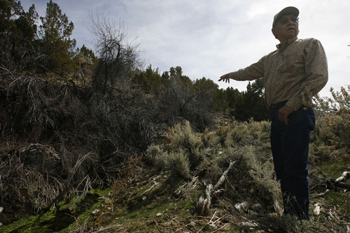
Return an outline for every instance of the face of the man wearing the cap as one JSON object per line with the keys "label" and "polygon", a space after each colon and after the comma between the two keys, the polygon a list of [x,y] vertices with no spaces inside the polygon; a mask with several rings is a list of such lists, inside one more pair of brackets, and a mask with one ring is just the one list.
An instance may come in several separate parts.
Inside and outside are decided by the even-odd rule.
{"label": "face of the man wearing the cap", "polygon": [[279,41],[287,41],[299,34],[299,21],[295,15],[283,15],[272,28],[272,33]]}

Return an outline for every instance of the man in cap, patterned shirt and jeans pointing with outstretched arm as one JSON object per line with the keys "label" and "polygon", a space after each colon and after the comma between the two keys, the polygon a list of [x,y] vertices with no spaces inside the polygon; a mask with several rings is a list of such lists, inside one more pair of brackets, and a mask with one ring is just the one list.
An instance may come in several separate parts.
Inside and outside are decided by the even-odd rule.
{"label": "man in cap, patterned shirt and jeans pointing with outstretched arm", "polygon": [[257,63],[221,76],[219,81],[264,78],[270,110],[271,147],[276,178],[281,181],[283,214],[309,219],[307,157],[315,114],[309,106],[328,81],[325,52],[314,38],[299,39],[299,10],[287,7],[274,16],[277,50]]}

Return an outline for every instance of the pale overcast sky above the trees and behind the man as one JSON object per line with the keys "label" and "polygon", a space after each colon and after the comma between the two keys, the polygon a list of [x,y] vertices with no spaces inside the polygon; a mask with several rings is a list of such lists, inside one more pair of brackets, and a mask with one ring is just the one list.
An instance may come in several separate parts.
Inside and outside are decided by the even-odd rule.
{"label": "pale overcast sky above the trees and behind the man", "polygon": [[[25,10],[35,4],[45,16],[49,0],[22,0]],[[349,85],[350,22],[349,0],[56,0],[62,13],[74,23],[72,38],[77,47],[93,48],[87,26],[89,15],[105,15],[121,22],[130,41],[141,43],[146,66],[160,73],[181,66],[192,80],[210,78],[221,88],[246,90],[248,82],[218,82],[224,73],[255,63],[276,50],[272,19],[286,6],[300,10],[299,38],[317,38],[328,57],[329,80],[320,92],[330,95],[330,87]]]}

